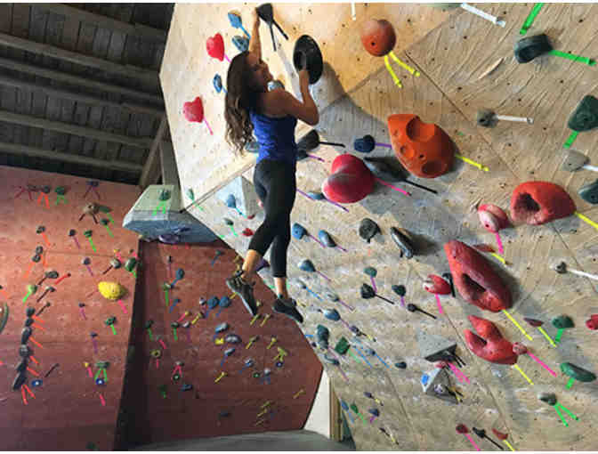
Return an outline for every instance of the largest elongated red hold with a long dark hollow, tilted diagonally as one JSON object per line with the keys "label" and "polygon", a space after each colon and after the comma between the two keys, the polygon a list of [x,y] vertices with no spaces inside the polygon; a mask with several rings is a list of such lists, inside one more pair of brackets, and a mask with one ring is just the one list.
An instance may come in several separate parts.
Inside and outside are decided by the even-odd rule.
{"label": "largest elongated red hold with a long dark hollow, tilted diagonally", "polygon": [[481,309],[499,312],[511,307],[511,292],[489,262],[461,241],[444,245],[453,283],[465,301]]}

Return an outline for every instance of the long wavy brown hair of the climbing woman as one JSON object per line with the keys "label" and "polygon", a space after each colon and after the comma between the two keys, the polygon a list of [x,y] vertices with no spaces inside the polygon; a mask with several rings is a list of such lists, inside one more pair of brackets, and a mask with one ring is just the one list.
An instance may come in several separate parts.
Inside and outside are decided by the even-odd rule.
{"label": "long wavy brown hair of the climbing woman", "polygon": [[254,125],[249,118],[249,110],[255,108],[257,93],[249,85],[251,69],[247,65],[248,51],[239,53],[230,61],[226,77],[226,142],[234,147],[238,155],[244,155],[247,142],[253,140]]}

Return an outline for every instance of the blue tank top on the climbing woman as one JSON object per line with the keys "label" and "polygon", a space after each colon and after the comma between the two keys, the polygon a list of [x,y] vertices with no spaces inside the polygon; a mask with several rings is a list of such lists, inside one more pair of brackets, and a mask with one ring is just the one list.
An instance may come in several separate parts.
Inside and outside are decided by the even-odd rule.
{"label": "blue tank top on the climbing woman", "polygon": [[295,143],[295,117],[270,118],[250,111],[254,134],[260,144],[257,162],[262,159],[284,161],[296,168],[297,144]]}

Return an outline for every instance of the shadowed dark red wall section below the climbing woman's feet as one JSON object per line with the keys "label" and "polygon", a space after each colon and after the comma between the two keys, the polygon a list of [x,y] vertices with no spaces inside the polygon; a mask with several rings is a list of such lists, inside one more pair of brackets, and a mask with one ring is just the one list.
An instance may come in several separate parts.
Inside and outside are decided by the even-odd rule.
{"label": "shadowed dark red wall section below the climbing woman's feet", "polygon": [[[135,299],[131,337],[135,360],[126,375],[123,408],[129,416],[121,449],[193,438],[298,430],[305,424],[318,391],[322,366],[296,324],[271,311],[272,293],[263,282],[255,288],[256,297],[263,302],[261,320],[250,325],[251,317],[245,306],[233,298],[222,312],[216,307],[206,318],[198,319],[189,333],[185,332],[186,328],[179,328],[178,340],[174,340],[172,321],[186,311],[190,315],[181,323],[194,320],[199,310],[206,314],[206,306],[199,304],[201,297],[230,296],[224,280],[235,270],[232,259],[236,254],[222,246],[220,240],[190,247],[157,242],[142,244],[145,266]],[[224,254],[211,265],[217,250]],[[168,255],[173,258],[170,276],[166,264]],[[171,312],[160,286],[165,281],[172,282],[179,268],[185,271],[185,277],[175,284],[168,298],[171,305],[175,298],[181,301]],[[271,314],[271,318],[261,326],[266,313]],[[148,320],[154,321],[151,339],[144,328]],[[218,337],[234,333],[241,338],[240,344],[214,344],[214,328],[222,322],[227,322],[230,328]],[[166,349],[158,343],[158,336]],[[253,336],[259,339],[246,349]],[[268,349],[271,336],[278,340]],[[235,353],[221,365],[223,352],[230,347],[236,349]],[[280,368],[274,360],[278,347],[288,353]],[[158,364],[150,356],[153,350],[161,352]],[[247,358],[252,358],[255,366],[239,372]],[[171,378],[175,361],[184,362],[178,382]],[[254,372],[263,374],[265,368],[271,369],[270,385],[262,381],[263,375],[253,377]],[[227,372],[228,377],[214,383],[222,371]],[[193,389],[183,392],[183,384],[192,385]],[[158,390],[161,385],[166,385],[166,399]],[[301,389],[304,393],[294,399]],[[274,413],[266,412],[263,417],[257,417],[266,401],[271,401]],[[230,416],[219,418],[223,411],[229,411]],[[256,425],[260,420],[262,422]]]}

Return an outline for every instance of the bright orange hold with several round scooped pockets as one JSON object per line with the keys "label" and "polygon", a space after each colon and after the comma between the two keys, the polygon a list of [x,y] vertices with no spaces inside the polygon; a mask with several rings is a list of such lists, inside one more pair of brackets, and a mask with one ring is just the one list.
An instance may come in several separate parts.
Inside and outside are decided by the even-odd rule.
{"label": "bright orange hold with several round scooped pockets", "polygon": [[436,178],[449,172],[455,156],[453,142],[439,126],[424,123],[414,114],[388,118],[392,150],[412,174]]}

